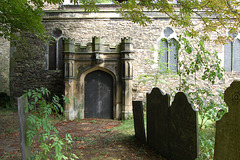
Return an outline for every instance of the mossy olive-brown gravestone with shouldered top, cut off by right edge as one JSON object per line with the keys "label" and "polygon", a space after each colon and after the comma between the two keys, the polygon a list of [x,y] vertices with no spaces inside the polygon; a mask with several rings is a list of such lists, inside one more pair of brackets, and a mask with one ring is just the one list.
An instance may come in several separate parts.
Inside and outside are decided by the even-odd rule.
{"label": "mossy olive-brown gravestone with shouldered top, cut off by right edge", "polygon": [[229,107],[216,123],[214,160],[240,159],[240,81],[234,81],[224,93]]}

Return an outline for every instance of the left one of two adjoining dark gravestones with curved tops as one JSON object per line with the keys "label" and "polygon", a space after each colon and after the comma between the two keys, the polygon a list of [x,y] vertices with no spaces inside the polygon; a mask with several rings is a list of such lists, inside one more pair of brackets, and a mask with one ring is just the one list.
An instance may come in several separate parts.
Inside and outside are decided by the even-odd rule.
{"label": "left one of two adjoining dark gravestones with curved tops", "polygon": [[147,94],[147,142],[163,157],[168,155],[168,121],[170,96],[159,88]]}

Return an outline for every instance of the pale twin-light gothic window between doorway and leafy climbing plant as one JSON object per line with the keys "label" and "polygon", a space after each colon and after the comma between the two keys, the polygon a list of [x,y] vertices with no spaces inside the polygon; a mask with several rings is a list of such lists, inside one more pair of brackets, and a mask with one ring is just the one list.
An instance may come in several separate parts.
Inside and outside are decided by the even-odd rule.
{"label": "pale twin-light gothic window between doorway and leafy climbing plant", "polygon": [[177,72],[178,58],[177,58],[177,46],[178,42],[175,38],[172,38],[173,30],[167,27],[164,30],[164,38],[160,41],[160,70],[164,71],[170,69],[173,72]]}

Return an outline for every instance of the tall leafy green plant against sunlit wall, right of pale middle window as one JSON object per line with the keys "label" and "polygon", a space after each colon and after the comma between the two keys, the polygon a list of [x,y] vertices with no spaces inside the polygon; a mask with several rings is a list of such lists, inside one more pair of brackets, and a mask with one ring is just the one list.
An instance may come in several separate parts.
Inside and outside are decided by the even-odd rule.
{"label": "tall leafy green plant against sunlit wall, right of pale middle window", "polygon": [[[197,45],[191,45],[191,42],[187,40],[188,36],[189,34],[186,33],[179,37],[183,46],[179,54],[184,55],[182,56],[184,59],[179,62],[180,85],[177,90],[189,94],[192,103],[202,116],[201,128],[205,117],[208,120],[215,121],[217,111],[226,108],[222,99],[223,93],[221,91],[214,93],[211,89],[217,79],[222,79],[224,69],[220,66],[221,60],[218,58],[217,52],[206,50],[204,46],[206,39],[204,37],[200,37],[195,43],[192,43]],[[189,80],[189,77],[194,80]]]}

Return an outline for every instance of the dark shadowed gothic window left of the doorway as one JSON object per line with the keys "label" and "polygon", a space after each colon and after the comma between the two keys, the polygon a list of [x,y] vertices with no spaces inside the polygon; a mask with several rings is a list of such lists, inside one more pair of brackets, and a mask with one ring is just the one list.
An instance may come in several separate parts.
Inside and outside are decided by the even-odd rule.
{"label": "dark shadowed gothic window left of the doorway", "polygon": [[52,33],[52,39],[50,40],[48,47],[49,70],[63,69],[62,40],[62,31],[59,29],[55,29]]}

